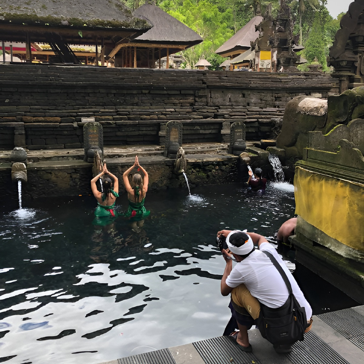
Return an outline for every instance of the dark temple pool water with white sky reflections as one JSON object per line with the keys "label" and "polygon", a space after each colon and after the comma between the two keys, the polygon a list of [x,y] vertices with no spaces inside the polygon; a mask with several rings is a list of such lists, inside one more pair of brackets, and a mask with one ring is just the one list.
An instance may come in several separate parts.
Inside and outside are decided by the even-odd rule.
{"label": "dark temple pool water with white sky reflections", "polygon": [[[230,314],[216,232],[247,228],[273,241],[294,196],[272,185],[264,195],[239,185],[192,192],[148,193],[139,233],[122,218],[95,230],[91,196],[23,201],[21,211],[3,199],[0,362],[93,364],[222,335]],[[317,276],[298,280],[315,314],[355,304]]]}

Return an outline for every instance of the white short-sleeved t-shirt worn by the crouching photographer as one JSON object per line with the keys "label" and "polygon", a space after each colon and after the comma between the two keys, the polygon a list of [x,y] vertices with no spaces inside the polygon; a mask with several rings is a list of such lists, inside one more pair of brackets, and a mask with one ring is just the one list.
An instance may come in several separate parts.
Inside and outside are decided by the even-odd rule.
{"label": "white short-sleeved t-shirt worn by the crouching photographer", "polygon": [[262,253],[263,250],[271,253],[283,268],[292,286],[292,292],[301,307],[305,308],[306,317],[309,320],[312,316],[311,306],[277,250],[268,242],[262,243],[259,250],[254,250],[243,261],[237,263],[226,278],[226,284],[235,288],[244,283],[252,296],[262,304],[271,308],[281,307],[288,298],[288,288],[272,261]]}

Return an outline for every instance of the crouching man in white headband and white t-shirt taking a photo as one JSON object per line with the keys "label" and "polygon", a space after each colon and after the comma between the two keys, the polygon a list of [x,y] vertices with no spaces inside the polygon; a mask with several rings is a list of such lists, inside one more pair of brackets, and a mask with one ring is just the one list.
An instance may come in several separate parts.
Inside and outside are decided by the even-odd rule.
{"label": "crouching man in white headband and white t-shirt taking a photo", "polygon": [[276,352],[290,352],[310,330],[312,309],[276,249],[265,237],[246,230],[221,230],[217,243],[226,262],[221,294],[231,294],[230,323],[236,320],[239,329],[229,337],[251,352],[248,330],[256,324]]}

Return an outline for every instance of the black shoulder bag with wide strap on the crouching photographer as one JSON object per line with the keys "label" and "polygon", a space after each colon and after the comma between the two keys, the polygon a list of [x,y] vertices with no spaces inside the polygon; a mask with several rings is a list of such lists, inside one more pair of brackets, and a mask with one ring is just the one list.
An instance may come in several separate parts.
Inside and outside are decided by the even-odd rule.
{"label": "black shoulder bag with wide strap on the crouching photographer", "polygon": [[289,296],[278,308],[260,304],[258,328],[261,335],[274,345],[293,344],[304,339],[307,318],[304,307],[300,307],[292,292],[292,286],[284,270],[271,253],[262,251],[272,261],[287,285]]}

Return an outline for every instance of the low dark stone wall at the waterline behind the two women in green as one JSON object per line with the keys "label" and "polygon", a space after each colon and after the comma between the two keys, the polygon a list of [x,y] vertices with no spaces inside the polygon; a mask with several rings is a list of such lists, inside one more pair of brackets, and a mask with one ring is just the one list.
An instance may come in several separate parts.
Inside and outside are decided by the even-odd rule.
{"label": "low dark stone wall at the waterline behind the two women in green", "polygon": [[[201,185],[217,185],[238,182],[236,173],[237,157],[231,156],[225,160],[192,161],[187,165],[190,187]],[[149,191],[167,187],[182,187],[187,191],[183,175],[173,173],[174,160],[143,163],[149,175]],[[130,167],[128,162],[107,163],[108,169],[123,180],[123,173]],[[83,161],[68,161],[29,163],[27,168],[28,182],[22,187],[23,200],[38,197],[78,196],[92,194],[90,181],[92,179],[92,164]],[[124,184],[120,183],[119,194],[125,192]],[[16,182],[11,180],[11,163],[0,166],[0,196],[18,198]]]}

